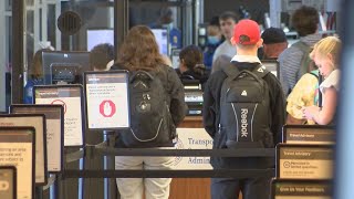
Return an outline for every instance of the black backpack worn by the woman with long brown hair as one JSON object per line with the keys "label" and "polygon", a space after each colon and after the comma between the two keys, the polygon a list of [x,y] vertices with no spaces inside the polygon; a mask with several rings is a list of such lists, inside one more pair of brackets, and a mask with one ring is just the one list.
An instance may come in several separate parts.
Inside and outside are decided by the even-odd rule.
{"label": "black backpack worn by the woman with long brown hair", "polygon": [[131,128],[119,134],[125,147],[173,146],[176,132],[171,128],[169,97],[157,73],[136,71],[129,76]]}

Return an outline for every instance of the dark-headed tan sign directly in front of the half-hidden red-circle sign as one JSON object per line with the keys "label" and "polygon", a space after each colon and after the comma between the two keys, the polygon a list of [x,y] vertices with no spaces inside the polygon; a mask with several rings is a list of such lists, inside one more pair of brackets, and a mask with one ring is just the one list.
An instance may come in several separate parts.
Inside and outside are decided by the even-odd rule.
{"label": "dark-headed tan sign directly in front of the half-hidden red-circle sign", "polygon": [[62,170],[64,146],[62,129],[61,105],[11,105],[10,112],[14,114],[44,114],[46,122],[46,167],[50,172]]}

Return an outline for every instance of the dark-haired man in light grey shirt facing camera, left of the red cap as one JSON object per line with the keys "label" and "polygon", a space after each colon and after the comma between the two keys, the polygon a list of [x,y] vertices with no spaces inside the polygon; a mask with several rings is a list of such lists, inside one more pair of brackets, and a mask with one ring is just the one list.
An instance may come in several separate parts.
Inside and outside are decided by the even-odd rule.
{"label": "dark-haired man in light grey shirt facing camera, left of the red cap", "polygon": [[216,49],[212,62],[215,62],[221,54],[232,57],[236,54],[236,48],[231,44],[232,31],[235,24],[238,22],[238,17],[235,12],[226,11],[219,17],[219,25],[225,41]]}

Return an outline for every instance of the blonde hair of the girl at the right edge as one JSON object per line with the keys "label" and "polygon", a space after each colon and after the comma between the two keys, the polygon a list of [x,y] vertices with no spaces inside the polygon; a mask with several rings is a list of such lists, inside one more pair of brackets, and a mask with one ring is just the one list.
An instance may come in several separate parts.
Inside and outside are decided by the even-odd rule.
{"label": "blonde hair of the girl at the right edge", "polygon": [[310,53],[310,57],[313,60],[315,55],[325,57],[331,54],[333,57],[333,67],[337,69],[341,48],[342,42],[337,36],[326,36],[314,45],[313,51]]}

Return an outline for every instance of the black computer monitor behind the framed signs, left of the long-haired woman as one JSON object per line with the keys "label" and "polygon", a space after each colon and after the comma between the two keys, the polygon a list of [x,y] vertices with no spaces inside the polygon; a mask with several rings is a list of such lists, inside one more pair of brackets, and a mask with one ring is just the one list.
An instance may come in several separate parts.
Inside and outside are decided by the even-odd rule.
{"label": "black computer monitor behind the framed signs, left of the long-haired woman", "polygon": [[42,52],[44,84],[82,84],[82,74],[90,69],[88,52]]}

